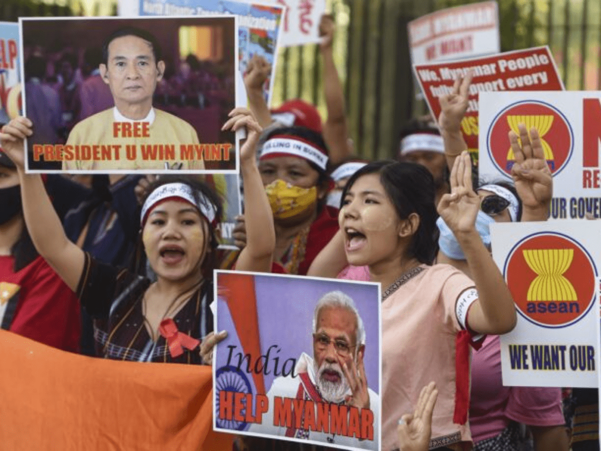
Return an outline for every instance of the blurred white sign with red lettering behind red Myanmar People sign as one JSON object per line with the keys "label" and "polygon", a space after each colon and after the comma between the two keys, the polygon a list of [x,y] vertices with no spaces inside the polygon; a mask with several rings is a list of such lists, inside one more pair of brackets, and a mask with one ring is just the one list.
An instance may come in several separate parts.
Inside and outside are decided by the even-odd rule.
{"label": "blurred white sign with red lettering behind red Myanmar People sign", "polygon": [[501,51],[496,2],[435,11],[407,24],[413,64],[478,57]]}

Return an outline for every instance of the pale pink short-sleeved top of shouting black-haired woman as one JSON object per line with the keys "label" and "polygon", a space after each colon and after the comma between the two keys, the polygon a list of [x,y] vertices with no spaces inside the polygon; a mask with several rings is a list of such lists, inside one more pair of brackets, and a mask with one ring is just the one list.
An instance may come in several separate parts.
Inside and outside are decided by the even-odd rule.
{"label": "pale pink short-sleeved top of shouting black-haired woman", "polygon": [[[469,424],[453,423],[453,414],[456,337],[462,330],[457,306],[474,282],[450,265],[424,268],[382,302],[383,451],[398,448],[397,422],[415,410],[419,392],[430,381],[439,391],[430,448],[471,441]],[[339,277],[365,280],[364,274],[352,269]]]}

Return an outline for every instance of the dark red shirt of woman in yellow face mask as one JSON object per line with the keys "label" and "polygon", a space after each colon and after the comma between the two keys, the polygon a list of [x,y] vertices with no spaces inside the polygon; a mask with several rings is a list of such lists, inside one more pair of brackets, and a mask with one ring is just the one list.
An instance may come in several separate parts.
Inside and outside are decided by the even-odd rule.
{"label": "dark red shirt of woman in yellow face mask", "polygon": [[[319,254],[326,244],[330,242],[332,237],[338,232],[338,209],[331,206],[324,206],[322,211],[317,215],[307,235],[307,245],[305,247],[305,258],[299,264],[299,269],[296,274],[307,275],[309,267],[317,254]],[[279,263],[273,263],[271,272],[285,274],[285,269]]]}

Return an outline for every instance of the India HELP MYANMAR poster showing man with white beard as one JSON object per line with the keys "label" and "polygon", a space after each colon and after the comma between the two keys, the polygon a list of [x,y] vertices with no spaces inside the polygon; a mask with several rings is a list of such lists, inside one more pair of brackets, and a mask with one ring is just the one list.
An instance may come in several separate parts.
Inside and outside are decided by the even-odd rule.
{"label": "India HELP MYANMAR poster showing man with white beard", "polygon": [[217,271],[213,428],[380,449],[380,286]]}

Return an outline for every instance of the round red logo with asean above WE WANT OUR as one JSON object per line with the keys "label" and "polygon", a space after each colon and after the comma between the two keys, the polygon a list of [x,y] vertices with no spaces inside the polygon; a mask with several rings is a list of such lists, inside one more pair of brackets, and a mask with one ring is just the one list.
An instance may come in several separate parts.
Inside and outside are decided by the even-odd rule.
{"label": "round red logo with asean above WE WANT OUR", "polygon": [[541,232],[511,250],[505,280],[518,313],[534,324],[559,328],[580,321],[594,304],[597,268],[569,236]]}

